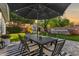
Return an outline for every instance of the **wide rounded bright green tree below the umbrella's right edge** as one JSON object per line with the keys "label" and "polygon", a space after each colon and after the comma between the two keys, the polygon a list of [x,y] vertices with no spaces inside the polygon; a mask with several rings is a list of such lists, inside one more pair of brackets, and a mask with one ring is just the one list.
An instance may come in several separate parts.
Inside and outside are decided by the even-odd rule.
{"label": "wide rounded bright green tree below the umbrella's right edge", "polygon": [[68,26],[70,24],[70,21],[66,18],[56,17],[49,19],[48,24],[50,27],[64,27]]}

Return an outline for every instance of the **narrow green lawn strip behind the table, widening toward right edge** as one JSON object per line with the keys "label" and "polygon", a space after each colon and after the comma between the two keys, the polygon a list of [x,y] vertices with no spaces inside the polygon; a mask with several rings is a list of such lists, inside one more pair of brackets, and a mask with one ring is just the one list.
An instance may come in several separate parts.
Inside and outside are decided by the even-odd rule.
{"label": "narrow green lawn strip behind the table, widening toward right edge", "polygon": [[72,40],[72,41],[79,41],[79,35],[62,35],[62,34],[47,34],[47,33],[43,33],[42,35],[66,39],[66,40]]}

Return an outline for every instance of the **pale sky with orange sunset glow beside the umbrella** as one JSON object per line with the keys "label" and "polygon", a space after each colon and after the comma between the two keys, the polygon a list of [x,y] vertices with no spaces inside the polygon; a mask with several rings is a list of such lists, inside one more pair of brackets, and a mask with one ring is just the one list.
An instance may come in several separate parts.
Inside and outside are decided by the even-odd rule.
{"label": "pale sky with orange sunset glow beside the umbrella", "polygon": [[66,9],[64,17],[68,18],[70,22],[79,25],[79,3],[72,3]]}

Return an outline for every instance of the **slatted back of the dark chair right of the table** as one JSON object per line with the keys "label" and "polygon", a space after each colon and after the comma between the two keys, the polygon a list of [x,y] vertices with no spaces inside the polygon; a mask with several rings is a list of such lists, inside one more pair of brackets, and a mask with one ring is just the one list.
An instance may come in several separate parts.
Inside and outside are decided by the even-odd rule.
{"label": "slatted back of the dark chair right of the table", "polygon": [[65,43],[65,40],[57,40],[56,43],[55,43],[55,48],[52,52],[52,56],[55,56],[55,55],[59,55],[63,46],[64,46],[64,43]]}

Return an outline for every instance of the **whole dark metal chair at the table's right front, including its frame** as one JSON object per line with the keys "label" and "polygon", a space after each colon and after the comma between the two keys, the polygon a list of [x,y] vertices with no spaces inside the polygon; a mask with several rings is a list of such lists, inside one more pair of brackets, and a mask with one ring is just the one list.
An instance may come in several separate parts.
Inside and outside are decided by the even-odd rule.
{"label": "whole dark metal chair at the table's right front, including its frame", "polygon": [[51,56],[59,56],[61,55],[62,48],[64,46],[65,40],[57,40],[54,43],[53,49],[49,49],[44,46],[44,48],[51,53]]}

